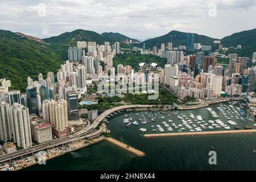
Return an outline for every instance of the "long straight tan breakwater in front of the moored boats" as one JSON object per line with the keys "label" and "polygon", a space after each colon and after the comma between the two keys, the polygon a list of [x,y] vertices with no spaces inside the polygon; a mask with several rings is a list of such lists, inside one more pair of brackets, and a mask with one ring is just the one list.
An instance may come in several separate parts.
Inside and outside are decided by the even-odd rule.
{"label": "long straight tan breakwater in front of the moored boats", "polygon": [[185,133],[158,133],[158,134],[145,134],[146,138],[150,137],[179,137],[179,136],[192,136],[192,135],[219,135],[219,134],[238,134],[238,133],[256,133],[255,130],[227,130],[227,131],[197,131]]}

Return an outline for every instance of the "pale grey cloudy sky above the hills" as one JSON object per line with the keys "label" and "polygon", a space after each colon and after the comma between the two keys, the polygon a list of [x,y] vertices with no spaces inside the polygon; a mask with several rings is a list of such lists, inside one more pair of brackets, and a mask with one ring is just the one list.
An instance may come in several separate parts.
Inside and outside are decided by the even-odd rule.
{"label": "pale grey cloudy sky above the hills", "polygon": [[0,0],[0,29],[48,38],[78,28],[146,39],[172,30],[213,38],[256,28],[256,0]]}

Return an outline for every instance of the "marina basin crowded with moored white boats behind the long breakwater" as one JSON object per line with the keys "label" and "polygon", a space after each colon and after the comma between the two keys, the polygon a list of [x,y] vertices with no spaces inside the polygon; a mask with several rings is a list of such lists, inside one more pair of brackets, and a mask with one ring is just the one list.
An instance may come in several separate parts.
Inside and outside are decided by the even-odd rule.
{"label": "marina basin crowded with moored white boats behind the long breakwater", "polygon": [[214,109],[212,107],[201,108],[203,116],[193,114],[193,110],[135,111],[126,113],[123,123],[126,127],[143,125],[138,129],[143,133],[193,133],[256,129],[255,118],[246,111],[245,102],[230,101],[215,105]]}

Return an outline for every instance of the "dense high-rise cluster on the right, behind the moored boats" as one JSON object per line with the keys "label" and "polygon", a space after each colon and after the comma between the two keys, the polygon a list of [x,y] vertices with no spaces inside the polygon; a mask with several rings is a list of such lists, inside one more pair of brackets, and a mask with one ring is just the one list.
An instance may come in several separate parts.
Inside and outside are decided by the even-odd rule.
{"label": "dense high-rise cluster on the right, behind the moored boats", "polygon": [[[195,50],[191,46],[194,41],[195,37],[188,33],[187,50]],[[164,44],[158,53],[156,47],[152,50],[152,54],[167,58],[167,64],[160,73],[160,82],[180,98],[203,99],[255,92],[256,69],[249,68],[249,57],[230,54],[229,64],[218,64],[216,57],[205,56],[203,49],[187,56],[183,51],[166,50]]]}

